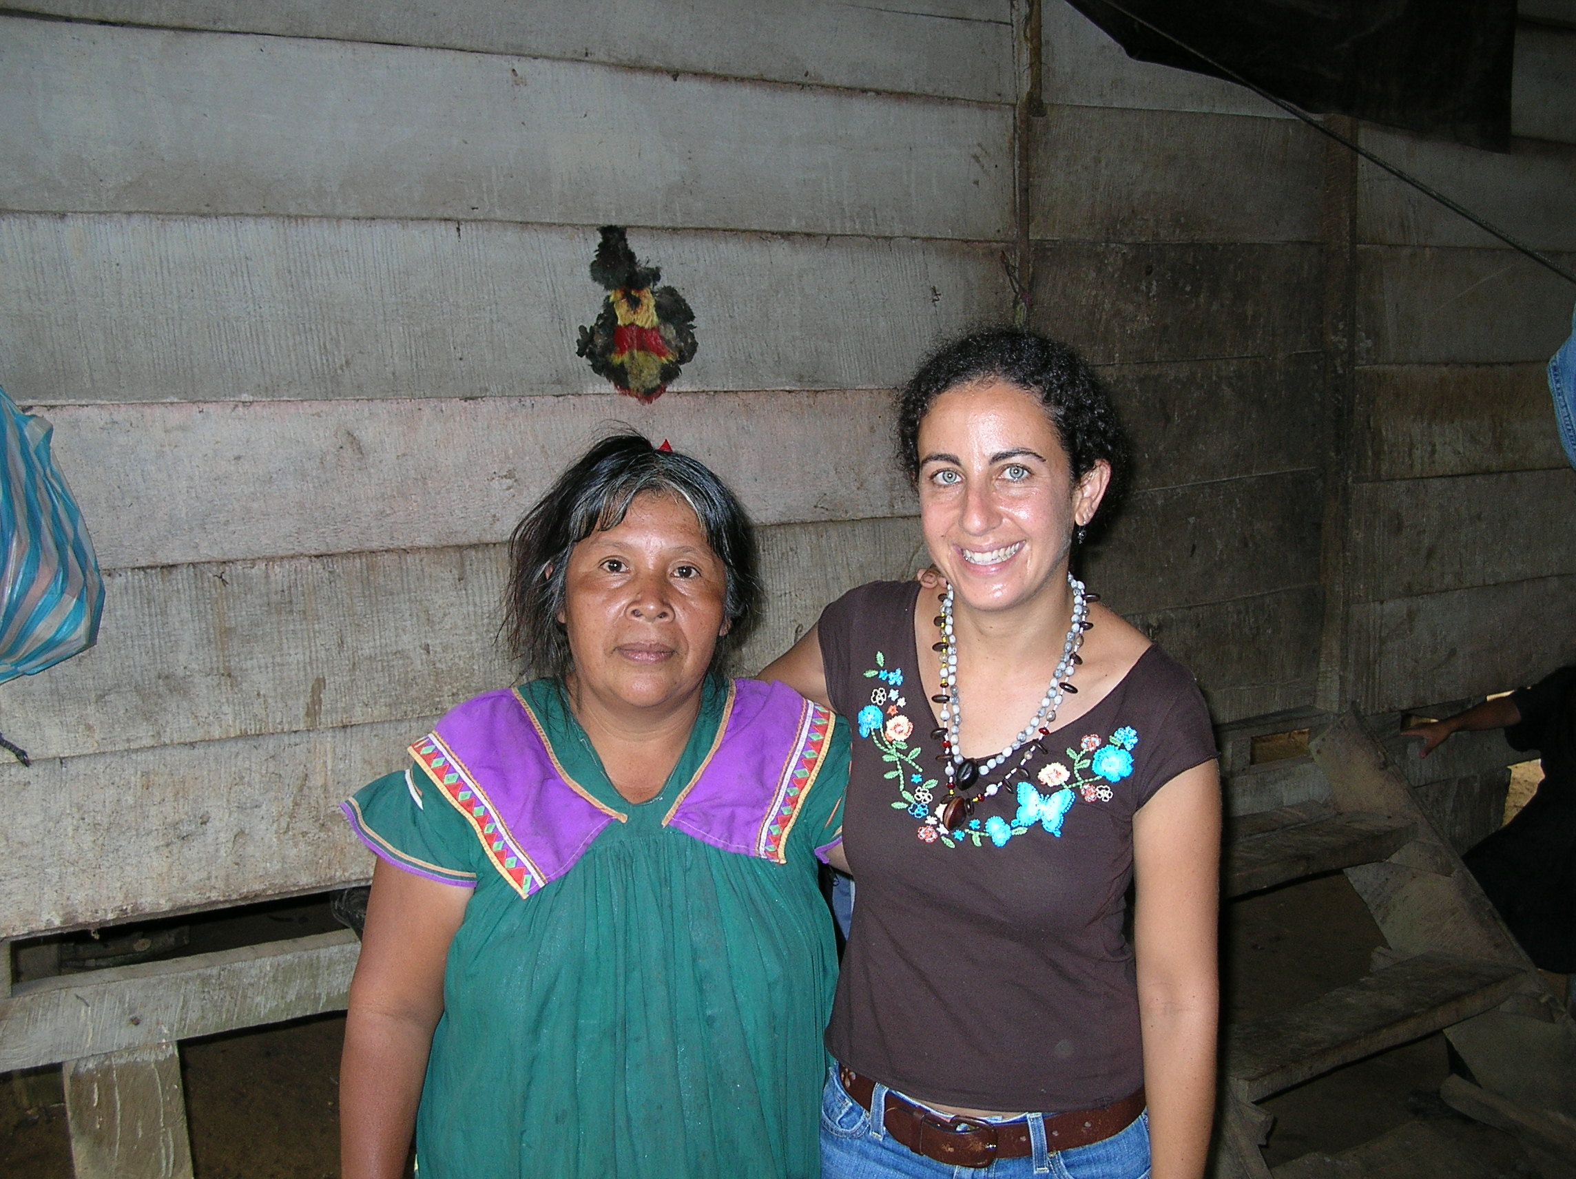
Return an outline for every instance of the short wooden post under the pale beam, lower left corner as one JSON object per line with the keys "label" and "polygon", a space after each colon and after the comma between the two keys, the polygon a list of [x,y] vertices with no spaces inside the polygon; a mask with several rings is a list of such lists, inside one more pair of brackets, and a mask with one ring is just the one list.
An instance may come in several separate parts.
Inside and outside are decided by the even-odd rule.
{"label": "short wooden post under the pale beam, lower left corner", "polygon": [[65,1086],[77,1179],[192,1179],[173,1043],[66,1061]]}

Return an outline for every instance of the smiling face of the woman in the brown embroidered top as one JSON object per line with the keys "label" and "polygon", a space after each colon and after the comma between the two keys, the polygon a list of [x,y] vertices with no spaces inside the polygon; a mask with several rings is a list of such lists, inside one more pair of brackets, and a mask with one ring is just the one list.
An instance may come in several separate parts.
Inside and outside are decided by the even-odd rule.
{"label": "smiling face of the woman in the brown embroidered top", "polygon": [[1039,397],[1017,385],[947,389],[919,424],[930,556],[966,605],[1021,605],[1064,574],[1072,531],[1094,519],[1110,474],[1100,462],[1073,481]]}

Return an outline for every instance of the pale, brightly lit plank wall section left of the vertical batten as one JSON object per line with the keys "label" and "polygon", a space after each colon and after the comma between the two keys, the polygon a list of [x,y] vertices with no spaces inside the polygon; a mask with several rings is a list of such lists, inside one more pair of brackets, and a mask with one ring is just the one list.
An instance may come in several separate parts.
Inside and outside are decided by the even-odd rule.
{"label": "pale, brightly lit plank wall section left of the vertical batten", "polygon": [[[1013,74],[1007,0],[903,9],[0,16],[0,385],[109,583],[0,687],[0,936],[366,876],[333,804],[509,682],[501,542],[610,422],[763,525],[745,667],[913,567],[886,389],[1009,307]],[[605,222],[697,311],[651,408],[574,355]]]}

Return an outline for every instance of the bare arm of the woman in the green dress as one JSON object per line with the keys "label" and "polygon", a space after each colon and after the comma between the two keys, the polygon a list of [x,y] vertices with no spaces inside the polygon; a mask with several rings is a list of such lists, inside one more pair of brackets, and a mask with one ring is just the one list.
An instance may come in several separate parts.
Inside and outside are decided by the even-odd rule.
{"label": "bare arm of the woman in the green dress", "polygon": [[344,1179],[405,1174],[432,1029],[443,1015],[443,965],[470,897],[381,859],[372,872],[339,1062]]}

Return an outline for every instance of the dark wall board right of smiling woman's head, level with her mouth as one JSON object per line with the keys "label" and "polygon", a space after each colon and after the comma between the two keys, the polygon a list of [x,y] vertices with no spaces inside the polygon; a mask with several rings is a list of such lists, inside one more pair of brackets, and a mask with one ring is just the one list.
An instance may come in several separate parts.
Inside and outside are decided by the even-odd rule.
{"label": "dark wall board right of smiling woman's head, level with her mouth", "polygon": [[1080,553],[1080,575],[1122,613],[1316,585],[1318,471],[1133,492]]}

